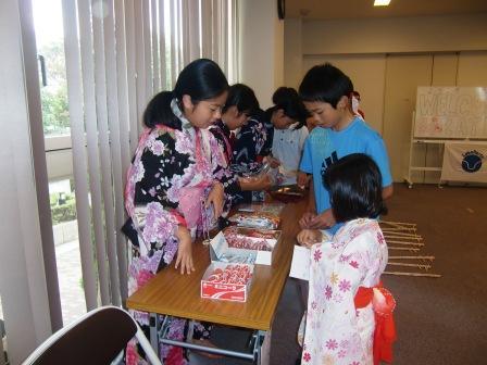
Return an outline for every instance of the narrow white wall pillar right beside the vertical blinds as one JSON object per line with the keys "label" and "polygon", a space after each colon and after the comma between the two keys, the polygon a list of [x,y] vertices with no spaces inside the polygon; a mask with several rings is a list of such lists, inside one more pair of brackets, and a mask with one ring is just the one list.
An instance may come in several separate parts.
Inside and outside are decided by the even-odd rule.
{"label": "narrow white wall pillar right beside the vertical blinds", "polygon": [[284,84],[284,21],[274,0],[239,1],[239,81],[249,85],[265,109]]}

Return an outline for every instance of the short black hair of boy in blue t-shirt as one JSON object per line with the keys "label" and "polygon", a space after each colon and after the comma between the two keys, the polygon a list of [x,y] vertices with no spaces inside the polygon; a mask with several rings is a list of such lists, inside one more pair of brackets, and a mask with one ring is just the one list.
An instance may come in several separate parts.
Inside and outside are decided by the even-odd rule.
{"label": "short black hair of boy in blue t-shirt", "polygon": [[303,101],[322,101],[337,108],[341,97],[350,97],[353,83],[341,70],[330,63],[316,65],[309,70],[299,86]]}

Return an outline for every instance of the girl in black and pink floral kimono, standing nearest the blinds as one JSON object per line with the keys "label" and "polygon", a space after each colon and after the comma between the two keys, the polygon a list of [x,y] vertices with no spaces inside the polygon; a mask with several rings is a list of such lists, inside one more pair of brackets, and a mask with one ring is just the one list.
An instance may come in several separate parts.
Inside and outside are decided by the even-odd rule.
{"label": "girl in black and pink floral kimono, standing nearest the blinds", "polygon": [[[132,243],[129,294],[173,260],[182,275],[195,270],[191,244],[201,231],[202,216],[208,218],[212,212],[213,218],[218,217],[224,194],[233,188],[218,144],[208,130],[221,117],[227,88],[216,63],[197,60],[182,71],[174,90],[158,93],[143,113],[146,128],[125,188],[129,218],[123,231]],[[148,313],[134,312],[134,316],[140,325],[149,325]],[[195,338],[208,338],[209,330],[197,324]],[[171,339],[184,340],[186,332],[187,320],[171,318]],[[180,348],[161,349],[164,364],[186,364]],[[145,363],[135,342],[127,348],[126,362]]]}

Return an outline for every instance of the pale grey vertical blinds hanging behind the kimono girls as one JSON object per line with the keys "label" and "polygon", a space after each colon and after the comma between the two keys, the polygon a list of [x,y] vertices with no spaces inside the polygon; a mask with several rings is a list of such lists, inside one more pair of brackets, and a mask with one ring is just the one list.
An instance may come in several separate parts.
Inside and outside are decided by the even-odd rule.
{"label": "pale grey vertical blinds hanging behind the kimono girls", "polygon": [[123,189],[150,98],[204,56],[237,79],[237,0],[63,0],[87,310],[127,297]]}

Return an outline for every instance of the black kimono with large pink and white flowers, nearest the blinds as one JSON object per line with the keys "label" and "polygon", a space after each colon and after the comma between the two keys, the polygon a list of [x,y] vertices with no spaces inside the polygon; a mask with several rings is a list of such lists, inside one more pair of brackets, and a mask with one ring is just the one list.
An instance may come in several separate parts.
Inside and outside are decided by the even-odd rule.
{"label": "black kimono with large pink and white flowers, nearest the blinds", "polygon": [[[172,108],[182,121],[182,130],[165,126],[146,129],[127,173],[125,209],[129,218],[122,230],[128,236],[132,248],[129,294],[174,260],[178,225],[186,226],[190,232],[201,228],[201,199],[212,185],[220,181],[228,186],[223,155],[213,135],[193,128],[174,102]],[[182,206],[183,194],[187,191],[200,199]],[[189,213],[197,219],[186,219]],[[148,313],[134,311],[133,315],[141,326],[149,324]],[[171,318],[170,323],[170,338],[183,340],[187,320]],[[210,329],[211,326],[198,324],[195,338],[208,338]],[[127,364],[145,364],[134,341],[128,348]],[[162,345],[161,349],[165,364],[186,364],[180,348]]]}

